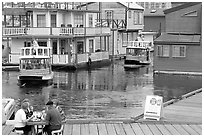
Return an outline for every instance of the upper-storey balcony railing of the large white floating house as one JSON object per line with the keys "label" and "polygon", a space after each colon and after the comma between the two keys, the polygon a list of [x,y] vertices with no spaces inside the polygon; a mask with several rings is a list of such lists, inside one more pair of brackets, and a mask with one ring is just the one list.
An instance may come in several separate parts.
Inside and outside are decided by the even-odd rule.
{"label": "upper-storey balcony railing of the large white floating house", "polygon": [[3,28],[3,36],[18,36],[18,35],[100,35],[109,34],[110,28]]}

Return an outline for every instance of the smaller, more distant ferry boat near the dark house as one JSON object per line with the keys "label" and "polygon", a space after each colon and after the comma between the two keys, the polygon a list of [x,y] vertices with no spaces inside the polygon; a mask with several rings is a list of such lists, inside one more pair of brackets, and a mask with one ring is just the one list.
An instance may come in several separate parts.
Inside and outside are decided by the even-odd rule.
{"label": "smaller, more distant ferry boat near the dark house", "polygon": [[134,69],[149,65],[150,61],[150,42],[130,41],[127,43],[126,57],[124,61],[125,69]]}

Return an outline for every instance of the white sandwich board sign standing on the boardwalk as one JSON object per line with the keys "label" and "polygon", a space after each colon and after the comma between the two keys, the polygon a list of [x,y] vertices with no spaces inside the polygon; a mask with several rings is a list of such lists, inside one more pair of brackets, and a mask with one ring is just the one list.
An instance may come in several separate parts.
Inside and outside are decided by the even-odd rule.
{"label": "white sandwich board sign standing on the boardwalk", "polygon": [[144,119],[160,120],[163,116],[163,97],[149,95],[146,96]]}

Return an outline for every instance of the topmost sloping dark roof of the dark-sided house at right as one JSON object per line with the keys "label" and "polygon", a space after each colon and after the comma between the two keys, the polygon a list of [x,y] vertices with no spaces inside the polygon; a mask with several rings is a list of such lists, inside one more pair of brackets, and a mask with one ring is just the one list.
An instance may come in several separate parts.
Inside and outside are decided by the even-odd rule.
{"label": "topmost sloping dark roof of the dark-sided house at right", "polygon": [[202,2],[186,2],[185,4],[182,4],[182,5],[179,5],[179,6],[164,10],[164,14],[175,12],[175,11],[178,11],[180,9],[184,9],[184,8],[191,7],[191,6],[194,6],[194,5],[197,5],[197,4],[201,4],[201,3]]}

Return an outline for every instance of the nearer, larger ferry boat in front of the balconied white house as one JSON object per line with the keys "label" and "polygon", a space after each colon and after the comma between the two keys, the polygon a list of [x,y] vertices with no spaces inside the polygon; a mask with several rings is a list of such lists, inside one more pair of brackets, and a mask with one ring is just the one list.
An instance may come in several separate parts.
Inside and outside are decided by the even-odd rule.
{"label": "nearer, larger ferry boat in front of the balconied white house", "polygon": [[37,44],[21,48],[19,64],[19,86],[52,84],[54,73],[51,70],[50,47],[40,47]]}

